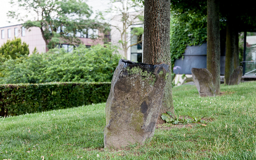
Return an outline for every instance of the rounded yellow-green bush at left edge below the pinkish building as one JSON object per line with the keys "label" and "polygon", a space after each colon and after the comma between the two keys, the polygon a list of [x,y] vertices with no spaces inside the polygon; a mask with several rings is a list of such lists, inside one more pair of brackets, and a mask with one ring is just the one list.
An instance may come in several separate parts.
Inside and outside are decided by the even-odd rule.
{"label": "rounded yellow-green bush at left edge below the pinkish building", "polygon": [[0,63],[25,55],[29,55],[29,45],[25,42],[21,43],[20,38],[15,38],[12,41],[8,39],[0,48]]}

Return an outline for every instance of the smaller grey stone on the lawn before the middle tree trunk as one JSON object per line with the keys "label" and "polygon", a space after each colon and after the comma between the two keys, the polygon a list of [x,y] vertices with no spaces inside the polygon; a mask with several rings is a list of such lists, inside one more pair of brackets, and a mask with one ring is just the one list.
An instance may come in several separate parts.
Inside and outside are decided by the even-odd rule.
{"label": "smaller grey stone on the lawn before the middle tree trunk", "polygon": [[212,74],[205,68],[192,68],[192,77],[200,96],[215,96]]}

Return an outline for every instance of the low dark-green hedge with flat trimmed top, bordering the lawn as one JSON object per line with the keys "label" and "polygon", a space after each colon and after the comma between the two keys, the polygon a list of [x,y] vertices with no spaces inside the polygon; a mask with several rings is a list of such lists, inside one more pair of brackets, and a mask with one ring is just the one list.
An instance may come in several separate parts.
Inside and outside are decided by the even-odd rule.
{"label": "low dark-green hedge with flat trimmed top, bordering the lawn", "polygon": [[106,102],[111,83],[0,85],[0,116],[20,115]]}

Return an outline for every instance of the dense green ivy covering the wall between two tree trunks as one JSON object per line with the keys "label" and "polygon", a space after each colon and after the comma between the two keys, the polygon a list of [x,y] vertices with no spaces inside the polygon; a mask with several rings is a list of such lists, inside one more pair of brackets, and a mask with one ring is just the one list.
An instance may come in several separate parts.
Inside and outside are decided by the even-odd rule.
{"label": "dense green ivy covering the wall between two tree trunks", "polygon": [[206,42],[207,16],[177,14],[173,11],[170,23],[170,52],[173,68],[174,61],[182,57],[188,45],[201,45]]}

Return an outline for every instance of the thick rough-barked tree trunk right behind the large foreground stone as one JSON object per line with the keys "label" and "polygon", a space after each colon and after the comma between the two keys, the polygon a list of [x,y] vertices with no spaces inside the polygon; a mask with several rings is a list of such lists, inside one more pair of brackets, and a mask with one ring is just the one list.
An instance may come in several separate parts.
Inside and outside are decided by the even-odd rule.
{"label": "thick rough-barked tree trunk right behind the large foreground stone", "polygon": [[[147,64],[168,64],[172,72],[170,57],[170,0],[145,0],[143,62]],[[158,122],[164,123],[161,116],[172,112],[172,76],[169,75],[158,114]]]}

